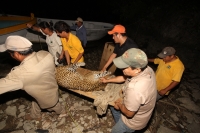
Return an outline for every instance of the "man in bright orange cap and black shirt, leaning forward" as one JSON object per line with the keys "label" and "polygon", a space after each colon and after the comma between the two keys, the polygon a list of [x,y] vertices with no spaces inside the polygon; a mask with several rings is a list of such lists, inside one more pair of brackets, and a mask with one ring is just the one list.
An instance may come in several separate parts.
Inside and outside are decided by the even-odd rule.
{"label": "man in bright orange cap and black shirt, leaning forward", "polygon": [[[113,35],[113,40],[116,45],[113,53],[111,54],[107,63],[104,65],[101,71],[105,71],[110,66],[113,59],[121,56],[126,50],[130,48],[138,48],[137,44],[132,39],[126,36],[126,29],[122,25],[115,25],[111,31],[108,31],[108,34]],[[117,68],[114,74],[118,76],[122,75],[123,72]]]}

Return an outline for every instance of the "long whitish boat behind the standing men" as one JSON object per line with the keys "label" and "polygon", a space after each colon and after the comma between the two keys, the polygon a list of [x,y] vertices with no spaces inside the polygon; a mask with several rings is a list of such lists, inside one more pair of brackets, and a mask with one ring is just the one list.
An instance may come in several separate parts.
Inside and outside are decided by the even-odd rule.
{"label": "long whitish boat behind the standing men", "polygon": [[[53,22],[55,24],[59,19],[48,19],[48,18],[37,18],[37,22],[40,23],[42,21]],[[62,20],[65,21],[69,26],[75,24],[74,20]],[[113,24],[104,23],[104,22],[94,22],[94,21],[84,21],[84,26],[87,30],[87,40],[94,41],[103,38],[107,35],[107,31],[113,28]],[[76,34],[76,31],[72,31],[73,34]],[[45,42],[45,39],[38,34],[28,32],[26,35],[32,42]]]}

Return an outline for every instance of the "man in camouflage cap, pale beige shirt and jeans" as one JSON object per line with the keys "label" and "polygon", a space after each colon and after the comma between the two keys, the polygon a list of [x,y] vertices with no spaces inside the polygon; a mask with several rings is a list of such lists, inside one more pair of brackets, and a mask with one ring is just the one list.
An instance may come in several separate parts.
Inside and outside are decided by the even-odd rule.
{"label": "man in camouflage cap, pale beige shirt and jeans", "polygon": [[123,97],[115,101],[111,112],[116,124],[112,133],[134,132],[144,128],[156,102],[156,79],[154,71],[147,66],[146,54],[137,48],[127,50],[113,60],[124,76],[111,79],[102,78],[102,82],[124,82]]}

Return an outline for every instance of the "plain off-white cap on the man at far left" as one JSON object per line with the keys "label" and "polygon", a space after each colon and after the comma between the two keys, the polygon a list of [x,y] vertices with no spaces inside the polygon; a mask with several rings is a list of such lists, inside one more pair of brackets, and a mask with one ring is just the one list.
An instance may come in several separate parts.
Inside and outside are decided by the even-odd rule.
{"label": "plain off-white cap on the man at far left", "polygon": [[30,49],[31,46],[32,43],[22,36],[8,36],[5,44],[0,44],[0,52],[4,52],[6,50],[25,51]]}

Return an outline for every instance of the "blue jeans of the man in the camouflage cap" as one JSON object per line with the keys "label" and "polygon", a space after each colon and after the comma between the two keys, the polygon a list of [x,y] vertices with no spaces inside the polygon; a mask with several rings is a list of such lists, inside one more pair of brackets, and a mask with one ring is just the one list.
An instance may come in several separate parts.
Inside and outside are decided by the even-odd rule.
{"label": "blue jeans of the man in the camouflage cap", "polygon": [[116,123],[113,126],[111,133],[133,133],[133,132],[135,132],[135,130],[126,126],[126,124],[122,121],[120,111],[115,110],[114,107],[110,107],[110,110],[112,112],[112,115],[113,115],[115,123]]}

